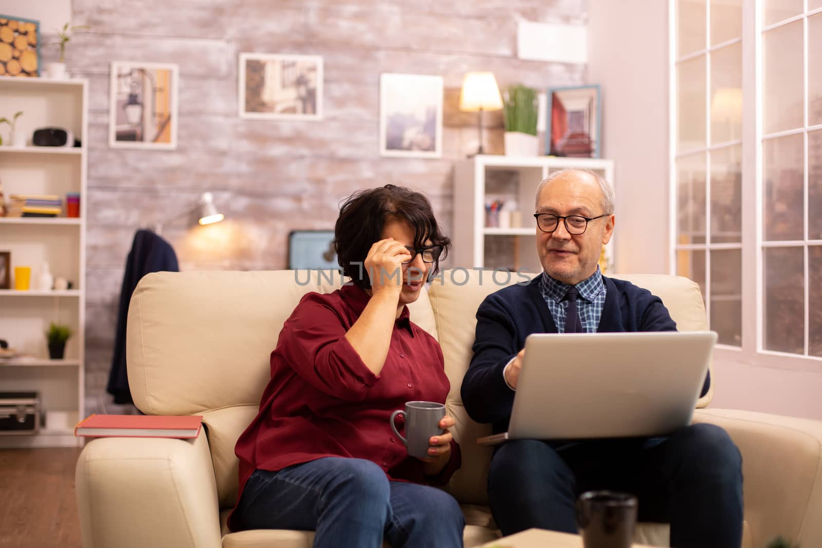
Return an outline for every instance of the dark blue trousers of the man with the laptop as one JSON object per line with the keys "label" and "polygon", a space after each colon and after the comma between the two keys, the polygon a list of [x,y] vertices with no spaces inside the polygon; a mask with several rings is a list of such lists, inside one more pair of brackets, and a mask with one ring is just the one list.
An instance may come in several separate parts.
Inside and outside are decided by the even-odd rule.
{"label": "dark blue trousers of the man with the laptop", "polygon": [[639,499],[640,521],[670,523],[671,546],[734,548],[742,539],[741,455],[718,426],[666,438],[586,440],[552,449],[538,440],[502,445],[488,474],[491,510],[504,535],[539,527],[577,532],[586,490]]}

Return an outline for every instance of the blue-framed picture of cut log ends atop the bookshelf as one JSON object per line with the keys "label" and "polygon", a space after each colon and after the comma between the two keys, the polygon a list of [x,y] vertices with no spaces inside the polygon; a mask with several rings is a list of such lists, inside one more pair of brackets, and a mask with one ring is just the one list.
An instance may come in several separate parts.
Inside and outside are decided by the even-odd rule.
{"label": "blue-framed picture of cut log ends atop the bookshelf", "polygon": [[40,23],[0,15],[0,76],[40,76]]}

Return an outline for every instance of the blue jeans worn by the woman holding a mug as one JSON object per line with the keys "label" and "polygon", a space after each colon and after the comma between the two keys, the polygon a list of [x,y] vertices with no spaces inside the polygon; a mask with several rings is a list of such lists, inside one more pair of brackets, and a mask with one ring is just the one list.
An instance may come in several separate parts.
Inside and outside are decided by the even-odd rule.
{"label": "blue jeans worn by the woman holding a mug", "polygon": [[362,458],[256,470],[235,510],[243,529],[316,531],[314,546],[463,546],[465,518],[436,487],[390,481]]}

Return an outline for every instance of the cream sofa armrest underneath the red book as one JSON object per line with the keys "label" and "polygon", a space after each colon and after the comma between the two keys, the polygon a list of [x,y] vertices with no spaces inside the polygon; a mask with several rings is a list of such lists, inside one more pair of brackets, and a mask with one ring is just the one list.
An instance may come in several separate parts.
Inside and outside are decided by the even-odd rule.
{"label": "cream sofa armrest underneath the red book", "polygon": [[208,440],[97,438],[77,460],[84,548],[219,548]]}

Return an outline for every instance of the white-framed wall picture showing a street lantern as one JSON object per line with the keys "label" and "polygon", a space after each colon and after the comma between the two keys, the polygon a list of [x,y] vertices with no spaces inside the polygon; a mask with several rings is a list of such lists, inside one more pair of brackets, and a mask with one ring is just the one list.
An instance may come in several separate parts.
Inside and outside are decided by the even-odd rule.
{"label": "white-framed wall picture showing a street lantern", "polygon": [[113,61],[109,147],[177,148],[179,69],[160,62]]}

